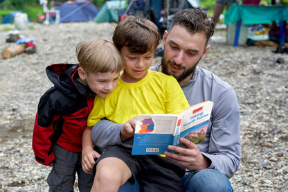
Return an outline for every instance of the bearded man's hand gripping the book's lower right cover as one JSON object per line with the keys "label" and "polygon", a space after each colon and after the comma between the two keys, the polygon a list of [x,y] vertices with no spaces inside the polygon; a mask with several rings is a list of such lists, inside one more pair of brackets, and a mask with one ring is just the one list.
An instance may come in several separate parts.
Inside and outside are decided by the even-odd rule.
{"label": "bearded man's hand gripping the book's lower right cover", "polygon": [[185,144],[188,148],[168,146],[168,149],[178,153],[165,151],[164,155],[166,155],[168,159],[181,164],[190,171],[198,171],[210,166],[210,160],[201,154],[197,145],[185,138],[180,138],[179,141]]}

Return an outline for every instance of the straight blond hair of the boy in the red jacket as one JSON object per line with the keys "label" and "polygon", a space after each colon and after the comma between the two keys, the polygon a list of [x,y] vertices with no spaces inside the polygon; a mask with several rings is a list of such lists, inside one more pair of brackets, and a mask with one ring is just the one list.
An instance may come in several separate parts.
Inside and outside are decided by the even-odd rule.
{"label": "straight blond hair of the boy in the red jacket", "polygon": [[101,38],[80,42],[76,47],[80,67],[86,72],[119,72],[124,62],[113,42]]}

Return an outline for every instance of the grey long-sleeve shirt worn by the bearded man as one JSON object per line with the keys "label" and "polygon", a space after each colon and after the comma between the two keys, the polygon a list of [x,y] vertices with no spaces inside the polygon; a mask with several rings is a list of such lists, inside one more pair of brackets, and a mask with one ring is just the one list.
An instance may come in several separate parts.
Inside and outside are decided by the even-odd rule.
{"label": "grey long-sleeve shirt worn by the bearded man", "polygon": [[[157,71],[160,62],[151,67]],[[240,110],[233,87],[214,73],[196,67],[192,79],[182,87],[190,104],[213,101],[205,141],[198,144],[200,152],[211,161],[209,168],[217,169],[228,178],[233,177],[240,165]],[[111,145],[132,147],[132,143],[120,141],[120,129],[123,124],[102,120],[94,125],[92,141],[100,148]]]}

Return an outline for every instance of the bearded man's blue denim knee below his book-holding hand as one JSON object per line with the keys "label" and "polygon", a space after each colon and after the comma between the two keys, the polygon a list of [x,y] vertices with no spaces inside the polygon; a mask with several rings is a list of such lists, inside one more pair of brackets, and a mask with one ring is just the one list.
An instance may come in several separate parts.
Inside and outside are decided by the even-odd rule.
{"label": "bearded man's blue denim knee below his book-holding hand", "polygon": [[228,178],[215,169],[204,169],[190,174],[183,180],[186,191],[233,191]]}

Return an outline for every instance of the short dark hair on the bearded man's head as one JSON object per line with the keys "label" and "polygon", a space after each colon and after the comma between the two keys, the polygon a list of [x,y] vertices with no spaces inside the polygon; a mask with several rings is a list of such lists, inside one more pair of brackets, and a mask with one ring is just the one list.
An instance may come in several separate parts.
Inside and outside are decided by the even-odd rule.
{"label": "short dark hair on the bearded man's head", "polygon": [[207,15],[206,10],[201,8],[190,8],[179,10],[172,17],[172,24],[169,31],[176,25],[186,28],[190,33],[204,33],[206,35],[206,44],[213,36],[215,25],[214,17]]}

